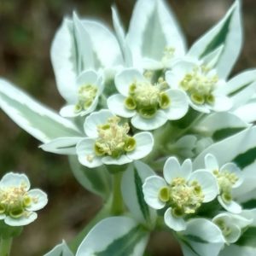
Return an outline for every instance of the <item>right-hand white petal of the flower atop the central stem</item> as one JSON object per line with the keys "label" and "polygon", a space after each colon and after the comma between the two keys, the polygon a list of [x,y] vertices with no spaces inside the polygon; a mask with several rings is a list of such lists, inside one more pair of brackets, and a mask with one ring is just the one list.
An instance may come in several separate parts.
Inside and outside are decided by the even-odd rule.
{"label": "right-hand white petal of the flower atop the central stem", "polygon": [[154,137],[150,132],[139,132],[133,138],[136,140],[136,148],[127,153],[129,158],[132,160],[138,160],[152,151],[154,146]]}

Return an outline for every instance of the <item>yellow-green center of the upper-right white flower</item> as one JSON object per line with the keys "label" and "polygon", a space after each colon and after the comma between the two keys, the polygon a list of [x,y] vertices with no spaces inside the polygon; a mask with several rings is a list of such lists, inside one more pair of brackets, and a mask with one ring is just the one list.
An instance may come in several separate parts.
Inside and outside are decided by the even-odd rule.
{"label": "yellow-green center of the upper-right white flower", "polygon": [[214,102],[212,91],[218,83],[218,76],[210,72],[211,70],[205,66],[195,67],[180,82],[181,88],[188,93],[191,101],[195,104],[212,104]]}

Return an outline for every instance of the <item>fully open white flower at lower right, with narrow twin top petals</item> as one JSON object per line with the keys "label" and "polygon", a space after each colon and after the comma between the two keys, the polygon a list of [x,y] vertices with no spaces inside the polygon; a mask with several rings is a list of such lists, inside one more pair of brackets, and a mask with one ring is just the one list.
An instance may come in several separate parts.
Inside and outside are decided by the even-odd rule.
{"label": "fully open white flower at lower right, with narrow twin top petals", "polygon": [[191,160],[182,166],[175,157],[166,160],[164,177],[148,177],[143,184],[144,199],[150,207],[168,207],[165,222],[172,230],[186,230],[184,217],[194,214],[202,203],[218,195],[218,184],[212,173],[192,172]]}

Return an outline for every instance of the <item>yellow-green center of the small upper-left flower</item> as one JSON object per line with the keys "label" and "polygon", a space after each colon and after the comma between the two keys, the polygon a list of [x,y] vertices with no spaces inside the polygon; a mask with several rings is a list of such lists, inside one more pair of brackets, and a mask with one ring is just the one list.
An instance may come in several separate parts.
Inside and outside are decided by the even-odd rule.
{"label": "yellow-green center of the small upper-left flower", "polygon": [[79,113],[82,110],[90,108],[90,105],[94,101],[97,93],[96,85],[84,84],[79,87],[79,100],[75,105],[74,111]]}

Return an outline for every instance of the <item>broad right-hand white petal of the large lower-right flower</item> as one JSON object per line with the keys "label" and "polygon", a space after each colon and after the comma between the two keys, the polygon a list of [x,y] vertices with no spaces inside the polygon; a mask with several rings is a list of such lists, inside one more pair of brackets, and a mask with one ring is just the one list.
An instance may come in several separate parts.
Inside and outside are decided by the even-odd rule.
{"label": "broad right-hand white petal of the large lower-right flower", "polygon": [[218,183],[211,172],[203,170],[192,172],[189,181],[198,181],[204,195],[203,202],[212,201],[218,195]]}

